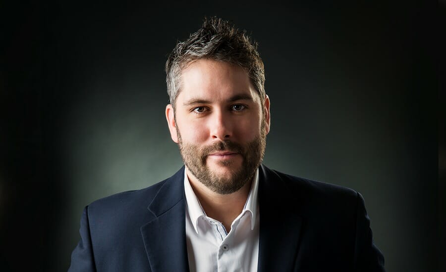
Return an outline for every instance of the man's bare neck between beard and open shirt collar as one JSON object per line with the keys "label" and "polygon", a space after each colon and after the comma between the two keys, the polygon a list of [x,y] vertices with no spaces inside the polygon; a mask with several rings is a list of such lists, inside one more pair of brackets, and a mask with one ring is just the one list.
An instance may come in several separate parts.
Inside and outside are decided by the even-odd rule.
{"label": "man's bare neck between beard and open shirt collar", "polygon": [[251,188],[251,181],[247,181],[240,189],[230,194],[219,194],[198,181],[186,167],[187,178],[208,217],[222,222],[229,232],[231,223],[243,211]]}

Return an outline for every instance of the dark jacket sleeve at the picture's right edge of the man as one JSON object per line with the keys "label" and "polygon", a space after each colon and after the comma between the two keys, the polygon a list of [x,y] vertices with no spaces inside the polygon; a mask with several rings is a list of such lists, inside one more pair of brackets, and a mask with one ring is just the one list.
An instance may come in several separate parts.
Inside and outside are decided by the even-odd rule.
{"label": "dark jacket sleeve at the picture's right edge of the man", "polygon": [[384,256],[373,243],[370,219],[367,216],[364,199],[357,193],[355,272],[385,272]]}

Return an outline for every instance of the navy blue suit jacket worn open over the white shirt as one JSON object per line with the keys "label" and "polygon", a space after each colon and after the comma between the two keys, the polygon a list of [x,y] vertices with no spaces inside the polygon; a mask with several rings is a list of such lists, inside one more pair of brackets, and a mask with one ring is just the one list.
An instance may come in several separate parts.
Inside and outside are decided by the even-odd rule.
{"label": "navy blue suit jacket worn open over the white shirt", "polygon": [[[70,272],[189,271],[184,167],[145,189],[87,206]],[[362,196],[259,169],[259,272],[382,272]]]}

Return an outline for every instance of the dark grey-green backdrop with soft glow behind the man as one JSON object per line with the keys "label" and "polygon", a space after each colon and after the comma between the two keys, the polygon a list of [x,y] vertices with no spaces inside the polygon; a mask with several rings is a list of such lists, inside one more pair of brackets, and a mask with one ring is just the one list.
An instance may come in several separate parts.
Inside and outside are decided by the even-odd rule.
{"label": "dark grey-green backdrop with soft glow behind the man", "polygon": [[387,270],[437,271],[435,7],[2,2],[1,271],[65,271],[85,205],[181,167],[164,64],[205,15],[259,43],[272,103],[264,163],[359,191]]}

